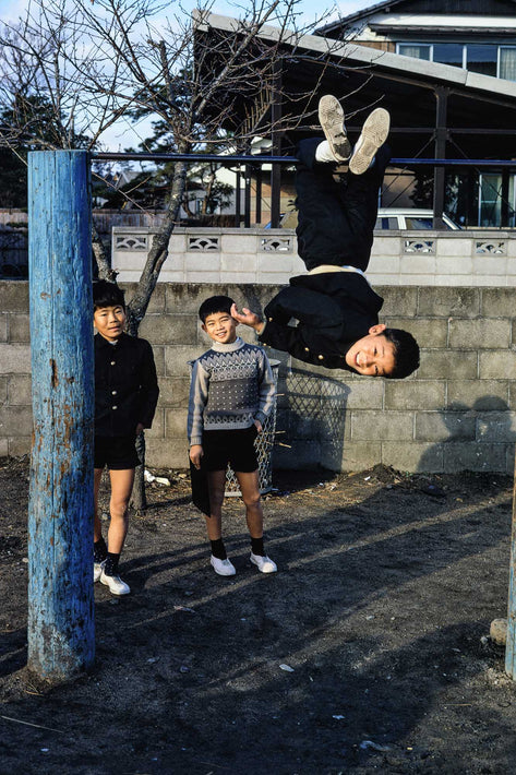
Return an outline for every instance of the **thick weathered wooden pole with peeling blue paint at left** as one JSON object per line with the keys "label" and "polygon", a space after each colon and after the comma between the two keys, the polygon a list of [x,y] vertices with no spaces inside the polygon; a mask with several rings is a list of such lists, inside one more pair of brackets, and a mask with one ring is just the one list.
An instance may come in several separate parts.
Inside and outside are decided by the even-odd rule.
{"label": "thick weathered wooden pole with peeling blue paint at left", "polygon": [[89,159],[28,154],[34,439],[28,506],[28,667],[52,682],[95,655],[94,356]]}

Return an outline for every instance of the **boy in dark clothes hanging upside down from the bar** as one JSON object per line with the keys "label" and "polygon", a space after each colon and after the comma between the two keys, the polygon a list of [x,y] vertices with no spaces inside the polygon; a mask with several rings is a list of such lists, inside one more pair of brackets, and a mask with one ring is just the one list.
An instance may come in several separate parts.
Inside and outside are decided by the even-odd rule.
{"label": "boy in dark clothes hanging upside down from the bar", "polygon": [[[298,252],[309,273],[290,278],[265,307],[265,321],[245,308],[233,307],[231,314],[262,343],[308,363],[408,377],[419,366],[418,344],[408,332],[379,323],[383,299],[364,276],[389,160],[388,112],[373,110],[352,151],[335,97],[322,97],[319,116],[326,140],[301,141],[296,178]],[[343,164],[348,171],[335,179]],[[297,326],[289,325],[292,318]]]}

